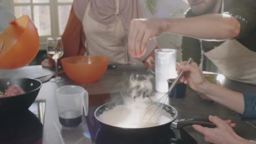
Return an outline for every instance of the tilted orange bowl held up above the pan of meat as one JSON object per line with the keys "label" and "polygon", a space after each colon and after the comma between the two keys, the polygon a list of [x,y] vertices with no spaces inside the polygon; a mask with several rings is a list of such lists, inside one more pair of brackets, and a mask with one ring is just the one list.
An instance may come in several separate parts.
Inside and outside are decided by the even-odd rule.
{"label": "tilted orange bowl held up above the pan of meat", "polygon": [[[0,68],[16,69],[29,64],[37,55],[40,39],[29,16],[21,16],[0,34]],[[1,49],[1,48],[0,48]]]}

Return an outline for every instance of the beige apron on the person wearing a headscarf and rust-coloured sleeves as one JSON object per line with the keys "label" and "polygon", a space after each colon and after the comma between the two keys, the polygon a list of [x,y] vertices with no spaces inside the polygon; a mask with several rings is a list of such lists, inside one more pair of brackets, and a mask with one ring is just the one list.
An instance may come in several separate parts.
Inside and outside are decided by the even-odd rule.
{"label": "beige apron on the person wearing a headscarf and rust-coloured sleeves", "polygon": [[125,32],[119,12],[119,0],[116,0],[117,22],[107,26],[89,16],[91,1],[83,18],[83,29],[86,37],[87,55],[107,56],[109,63],[126,64]]}

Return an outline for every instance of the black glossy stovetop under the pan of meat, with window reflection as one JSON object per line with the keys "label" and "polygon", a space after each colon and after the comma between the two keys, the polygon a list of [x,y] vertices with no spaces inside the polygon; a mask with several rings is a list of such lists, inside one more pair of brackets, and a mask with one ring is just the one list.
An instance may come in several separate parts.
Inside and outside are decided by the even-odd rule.
{"label": "black glossy stovetop under the pan of meat, with window reflection", "polygon": [[0,144],[41,144],[45,100],[36,100],[27,111],[0,116]]}

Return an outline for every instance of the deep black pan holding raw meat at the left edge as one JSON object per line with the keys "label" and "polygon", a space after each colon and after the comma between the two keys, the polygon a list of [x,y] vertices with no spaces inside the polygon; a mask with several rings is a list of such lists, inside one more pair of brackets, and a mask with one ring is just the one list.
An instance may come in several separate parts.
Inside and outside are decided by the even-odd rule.
{"label": "deep black pan holding raw meat at the left edge", "polygon": [[0,91],[4,92],[9,86],[18,85],[26,93],[0,98],[0,114],[7,112],[21,112],[27,110],[35,101],[42,83],[39,80],[29,78],[0,79]]}

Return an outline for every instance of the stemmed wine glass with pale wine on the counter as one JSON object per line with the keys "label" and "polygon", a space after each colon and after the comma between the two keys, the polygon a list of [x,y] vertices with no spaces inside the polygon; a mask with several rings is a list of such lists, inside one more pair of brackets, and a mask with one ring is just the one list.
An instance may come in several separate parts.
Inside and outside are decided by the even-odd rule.
{"label": "stemmed wine glass with pale wine on the counter", "polygon": [[58,75],[58,59],[63,56],[63,43],[61,37],[48,37],[47,38],[47,55],[55,61],[56,77],[52,78],[51,82],[62,81]]}

